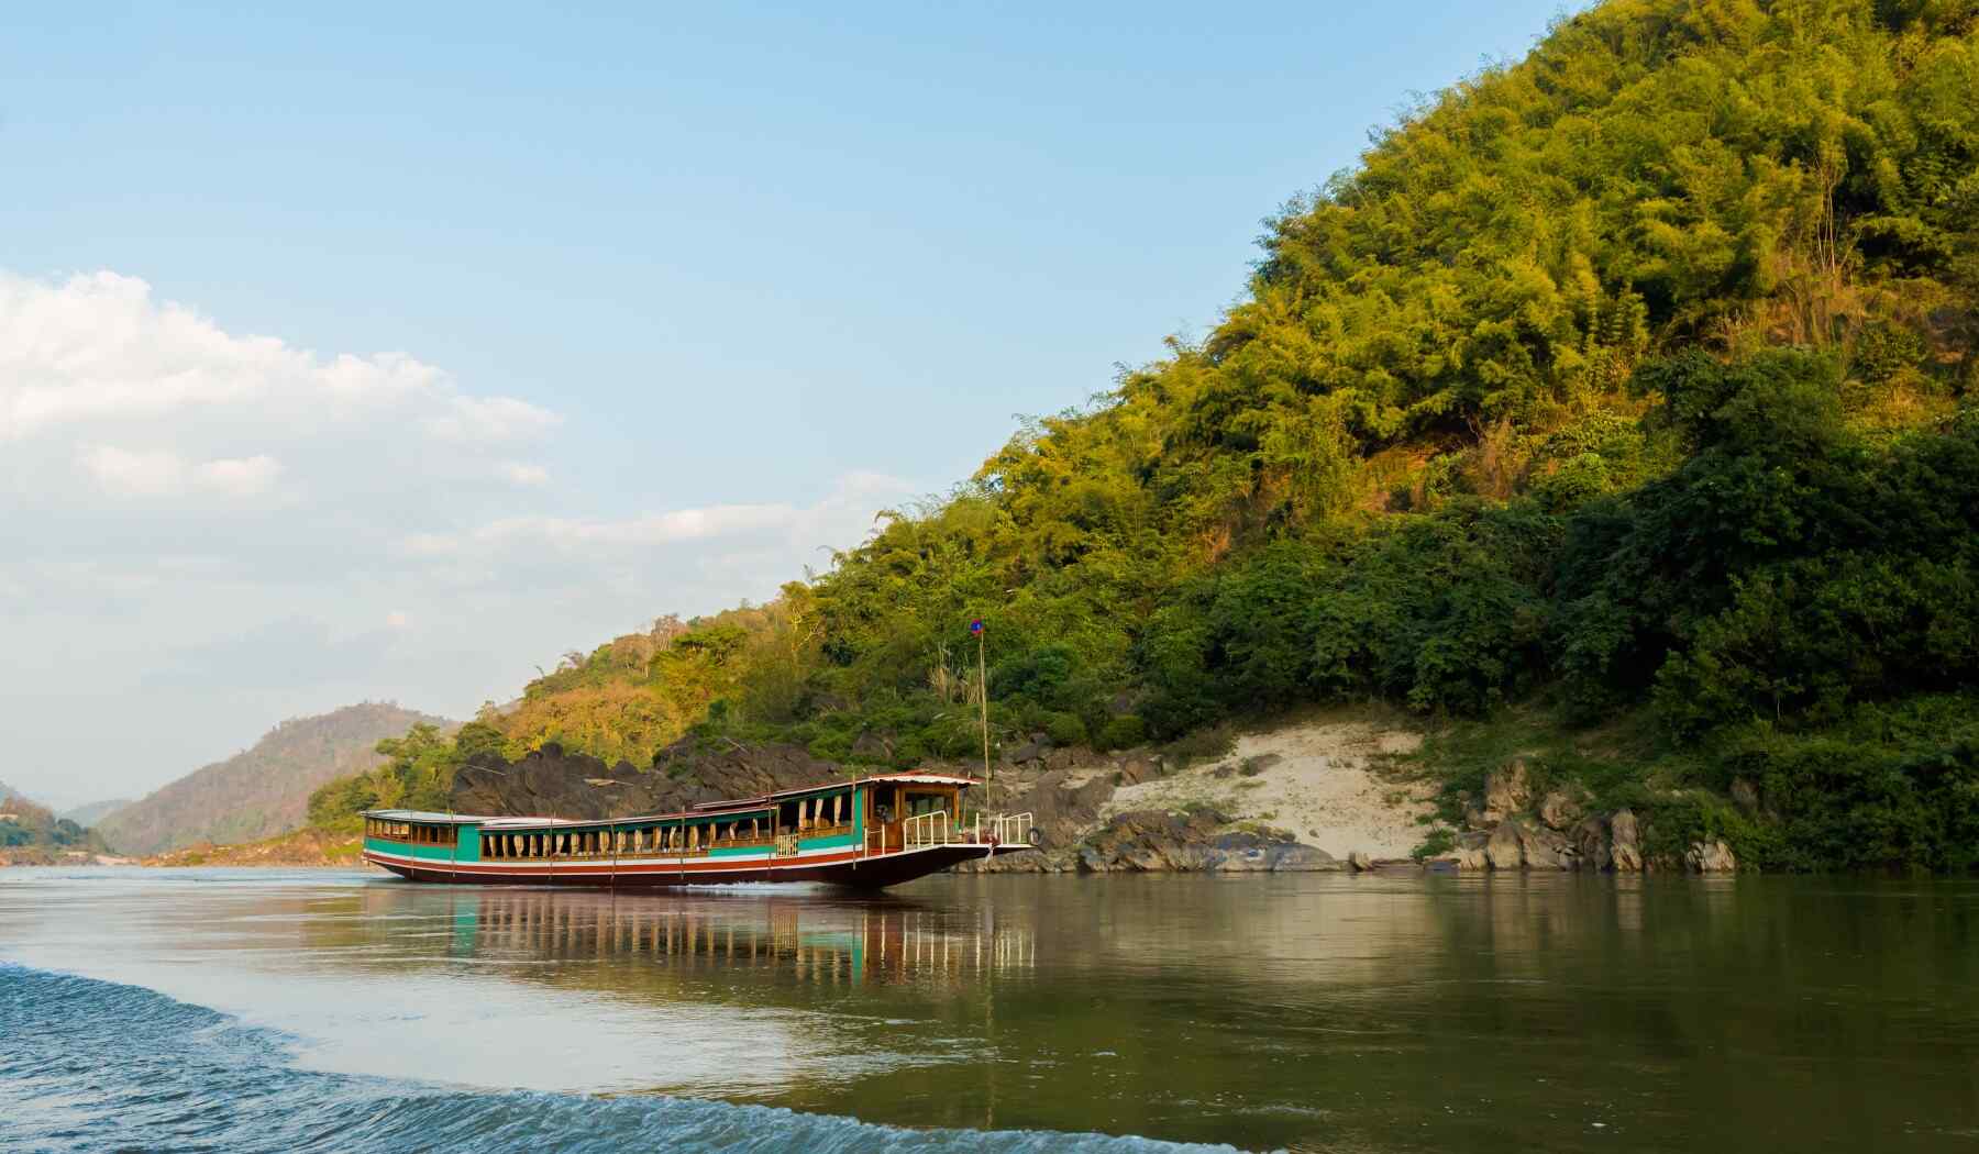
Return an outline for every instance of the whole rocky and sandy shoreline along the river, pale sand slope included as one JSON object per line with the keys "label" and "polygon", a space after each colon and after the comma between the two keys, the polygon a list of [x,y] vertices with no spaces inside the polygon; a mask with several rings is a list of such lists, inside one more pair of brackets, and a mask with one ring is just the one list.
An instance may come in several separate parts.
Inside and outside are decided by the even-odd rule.
{"label": "whole rocky and sandy shoreline along the river, pale sand slope included", "polygon": [[[1397,730],[1399,732],[1399,730]],[[1280,740],[1284,738],[1284,740]],[[1296,740],[1292,740],[1296,738]],[[1272,746],[1272,740],[1280,740]],[[1383,776],[1356,750],[1403,746],[1395,732],[1318,722],[1239,742],[1223,758],[1178,764],[1154,750],[1094,754],[1041,734],[1009,750],[978,796],[988,812],[1029,812],[1037,853],[958,867],[962,873],[1320,873],[1320,871],[1597,871],[1732,873],[1724,841],[1682,855],[1649,853],[1629,810],[1585,812],[1585,796],[1536,796],[1524,760],[1488,774],[1464,829],[1423,843],[1421,784]],[[1290,742],[1290,744],[1288,744]],[[1302,744],[1298,744],[1302,742]],[[1294,750],[1290,756],[1274,752]],[[1263,752],[1247,752],[1263,750]],[[1322,752],[1314,752],[1322,750]],[[980,766],[928,766],[974,772]],[[570,754],[556,744],[503,764],[471,764],[453,782],[457,814],[633,817],[703,802],[815,786],[871,772],[794,744],[681,740],[651,770]],[[1310,786],[1300,794],[1292,786]],[[1265,798],[1265,804],[1257,800]],[[1324,804],[1280,817],[1286,798]],[[1267,808],[1271,806],[1271,808]],[[1300,831],[1286,827],[1300,825]],[[1407,837],[1407,841],[1401,841]],[[1324,841],[1326,845],[1316,845]],[[1421,843],[1421,847],[1417,847]],[[1413,853],[1411,853],[1413,849]],[[192,845],[144,865],[358,865],[348,833],[299,829],[247,845]]]}

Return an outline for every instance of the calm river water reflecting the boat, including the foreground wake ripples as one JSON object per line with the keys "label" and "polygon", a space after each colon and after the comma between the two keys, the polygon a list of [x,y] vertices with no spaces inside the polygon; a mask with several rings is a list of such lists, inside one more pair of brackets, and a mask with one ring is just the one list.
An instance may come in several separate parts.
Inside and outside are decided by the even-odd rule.
{"label": "calm river water reflecting the boat, including the foreground wake ripples", "polygon": [[1979,1150],[1979,885],[0,871],[4,1150]]}

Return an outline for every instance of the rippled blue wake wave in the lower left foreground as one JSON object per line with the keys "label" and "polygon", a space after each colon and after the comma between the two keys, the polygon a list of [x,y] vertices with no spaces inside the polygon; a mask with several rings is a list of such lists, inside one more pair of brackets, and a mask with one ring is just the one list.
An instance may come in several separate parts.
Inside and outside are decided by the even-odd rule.
{"label": "rippled blue wake wave in the lower left foreground", "polygon": [[693,1099],[479,1093],[289,1065],[281,1035],[137,986],[0,964],[6,1150],[1229,1150],[1104,1134],[902,1130]]}

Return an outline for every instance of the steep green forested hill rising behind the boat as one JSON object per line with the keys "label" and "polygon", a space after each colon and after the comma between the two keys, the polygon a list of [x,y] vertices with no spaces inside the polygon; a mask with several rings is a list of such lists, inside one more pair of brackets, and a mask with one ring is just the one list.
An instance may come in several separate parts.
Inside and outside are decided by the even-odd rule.
{"label": "steep green forested hill rising behind the boat", "polygon": [[1599,4],[1261,245],[1203,340],[475,740],[966,756],[980,616],[997,740],[1379,699],[1747,863],[1973,863],[1979,2]]}

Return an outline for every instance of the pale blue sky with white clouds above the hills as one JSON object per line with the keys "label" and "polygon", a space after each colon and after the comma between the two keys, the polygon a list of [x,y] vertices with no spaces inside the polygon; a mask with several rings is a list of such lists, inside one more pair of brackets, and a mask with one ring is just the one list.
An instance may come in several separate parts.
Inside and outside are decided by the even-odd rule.
{"label": "pale blue sky with white clouds above the hills", "polygon": [[463,717],[762,600],[1209,329],[1263,216],[1559,10],[40,6],[0,42],[0,780]]}

